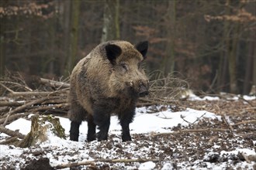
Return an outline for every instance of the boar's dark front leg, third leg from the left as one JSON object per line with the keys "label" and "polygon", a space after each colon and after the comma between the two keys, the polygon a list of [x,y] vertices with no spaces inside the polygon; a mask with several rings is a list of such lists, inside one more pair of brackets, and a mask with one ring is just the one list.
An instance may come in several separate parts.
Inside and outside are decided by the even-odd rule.
{"label": "boar's dark front leg, third leg from the left", "polygon": [[108,140],[110,125],[110,111],[106,107],[95,107],[93,114],[94,123],[98,126],[98,141]]}

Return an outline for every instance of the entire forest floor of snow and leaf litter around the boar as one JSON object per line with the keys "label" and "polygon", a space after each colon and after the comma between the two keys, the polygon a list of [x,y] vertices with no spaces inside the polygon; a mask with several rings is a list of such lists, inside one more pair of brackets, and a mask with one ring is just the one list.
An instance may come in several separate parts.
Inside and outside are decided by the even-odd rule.
{"label": "entire forest floor of snow and leaf litter around the boar", "polygon": [[[256,99],[183,100],[178,106],[137,108],[130,124],[133,141],[122,142],[112,117],[108,141],[78,142],[50,135],[30,148],[0,145],[1,169],[256,169]],[[184,108],[187,107],[187,108]],[[68,138],[70,122],[60,118]],[[29,118],[6,126],[22,134]],[[0,142],[9,138],[0,134]],[[79,164],[79,165],[78,165]]]}

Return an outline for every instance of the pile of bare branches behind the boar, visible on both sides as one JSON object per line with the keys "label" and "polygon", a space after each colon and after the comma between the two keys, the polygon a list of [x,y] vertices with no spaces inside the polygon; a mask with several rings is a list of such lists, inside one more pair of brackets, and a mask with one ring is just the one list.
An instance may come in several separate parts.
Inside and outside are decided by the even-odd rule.
{"label": "pile of bare branches behind the boar, visible on both sides", "polygon": [[[152,78],[152,76],[151,76]],[[39,76],[10,73],[0,80],[0,125],[5,126],[28,114],[67,116],[69,79],[48,80]],[[184,80],[154,73],[150,81],[150,95],[140,98],[137,107],[156,104],[178,104],[182,90],[188,87]]]}

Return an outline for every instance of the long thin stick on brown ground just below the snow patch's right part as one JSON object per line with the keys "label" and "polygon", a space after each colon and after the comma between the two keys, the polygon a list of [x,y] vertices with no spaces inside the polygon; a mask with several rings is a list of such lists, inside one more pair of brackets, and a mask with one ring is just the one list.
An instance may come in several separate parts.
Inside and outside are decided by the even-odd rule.
{"label": "long thin stick on brown ground just below the snow patch's right part", "polygon": [[206,129],[185,129],[180,131],[166,132],[166,133],[158,133],[153,136],[160,136],[166,134],[182,134],[182,133],[195,133],[195,132],[205,132],[205,131],[230,131],[230,129],[221,129],[221,128],[206,128]]}

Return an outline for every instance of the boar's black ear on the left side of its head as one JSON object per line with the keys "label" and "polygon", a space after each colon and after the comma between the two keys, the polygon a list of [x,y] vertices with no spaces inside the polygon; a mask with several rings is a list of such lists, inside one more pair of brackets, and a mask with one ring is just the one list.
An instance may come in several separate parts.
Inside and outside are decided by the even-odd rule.
{"label": "boar's black ear on the left side of its head", "polygon": [[122,53],[122,49],[115,44],[106,45],[106,56],[108,57],[110,63],[114,64],[116,61],[116,57],[120,56]]}

